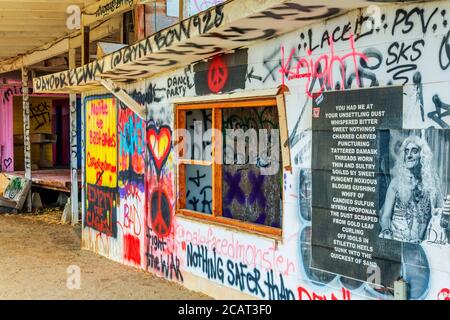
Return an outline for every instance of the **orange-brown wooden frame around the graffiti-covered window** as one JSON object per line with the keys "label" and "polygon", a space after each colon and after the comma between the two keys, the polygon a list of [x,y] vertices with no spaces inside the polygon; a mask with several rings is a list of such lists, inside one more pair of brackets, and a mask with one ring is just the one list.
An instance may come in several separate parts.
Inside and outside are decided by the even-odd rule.
{"label": "orange-brown wooden frame around the graffiti-covered window", "polygon": [[[281,103],[280,103],[281,102]],[[208,109],[212,111],[212,129],[217,129],[222,131],[222,109],[227,108],[258,108],[258,107],[274,107],[278,111],[279,128],[280,134],[280,147],[282,148],[281,157],[284,160],[284,155],[286,151],[283,148],[283,131],[285,131],[285,109],[284,109],[284,96],[280,100],[280,96],[276,97],[252,97],[249,99],[239,99],[239,100],[213,100],[213,101],[201,101],[198,103],[176,103],[175,105],[175,128],[176,129],[186,129],[186,111],[189,110],[201,110]],[[280,107],[282,110],[280,110]],[[283,123],[282,123],[283,122]],[[284,190],[281,187],[281,226],[280,228],[275,228],[271,226],[260,225],[252,222],[237,220],[233,218],[226,218],[222,216],[222,164],[213,161],[215,157],[222,158],[222,145],[218,145],[215,140],[214,132],[211,137],[212,143],[212,161],[202,161],[202,160],[189,160],[182,159],[183,155],[177,155],[176,162],[176,186],[177,186],[177,200],[176,200],[176,214],[178,216],[190,218],[199,222],[210,222],[215,225],[230,227],[237,229],[239,231],[244,231],[248,233],[254,233],[262,235],[269,238],[274,238],[276,240],[282,239],[283,234],[283,203],[284,203]],[[285,134],[287,135],[287,134]],[[176,137],[176,141],[179,142],[180,138]],[[290,161],[290,159],[289,159]],[[283,167],[289,169],[285,166],[285,161],[280,161],[279,170],[283,170]],[[211,214],[202,213],[198,211],[193,211],[186,208],[186,165],[201,165],[201,166],[211,166],[211,182],[212,182],[212,212]],[[284,182],[284,176],[281,172],[281,178]]]}

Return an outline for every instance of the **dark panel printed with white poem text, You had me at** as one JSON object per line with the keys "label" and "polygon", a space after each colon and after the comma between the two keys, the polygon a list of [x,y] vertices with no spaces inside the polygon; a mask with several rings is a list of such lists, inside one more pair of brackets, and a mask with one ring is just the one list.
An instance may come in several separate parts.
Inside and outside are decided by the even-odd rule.
{"label": "dark panel printed with white poem text, You had me at", "polygon": [[391,288],[400,275],[401,248],[378,237],[378,220],[381,129],[401,128],[402,95],[389,87],[314,99],[312,268]]}

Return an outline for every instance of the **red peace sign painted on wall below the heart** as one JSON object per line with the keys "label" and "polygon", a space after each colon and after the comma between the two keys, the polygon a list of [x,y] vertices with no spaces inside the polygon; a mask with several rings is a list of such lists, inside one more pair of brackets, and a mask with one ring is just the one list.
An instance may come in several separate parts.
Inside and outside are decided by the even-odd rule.
{"label": "red peace sign painted on wall below the heart", "polygon": [[167,195],[163,190],[153,192],[150,200],[150,214],[152,229],[160,237],[166,237],[170,233],[172,225],[172,212]]}

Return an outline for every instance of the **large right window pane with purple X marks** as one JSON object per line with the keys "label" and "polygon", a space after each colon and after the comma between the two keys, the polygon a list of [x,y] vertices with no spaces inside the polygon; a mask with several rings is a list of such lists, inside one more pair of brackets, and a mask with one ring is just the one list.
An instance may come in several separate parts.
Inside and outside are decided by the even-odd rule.
{"label": "large right window pane with purple X marks", "polygon": [[[222,110],[224,134],[223,213],[224,217],[281,227],[281,156],[278,112],[275,107],[227,108]],[[227,131],[227,130],[234,131]],[[236,131],[242,129],[241,132]],[[262,132],[267,143],[259,146]],[[253,130],[253,131],[252,131]],[[278,131],[277,131],[278,132]],[[278,139],[278,146],[272,146]],[[240,149],[241,148],[241,149]],[[272,158],[273,152],[277,157]],[[227,156],[228,152],[228,156]],[[273,174],[261,168],[272,166]]]}

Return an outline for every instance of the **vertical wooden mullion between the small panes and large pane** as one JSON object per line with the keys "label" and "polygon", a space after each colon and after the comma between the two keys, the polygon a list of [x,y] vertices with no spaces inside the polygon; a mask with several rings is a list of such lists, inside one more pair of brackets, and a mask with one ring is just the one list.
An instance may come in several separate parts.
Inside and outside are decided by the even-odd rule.
{"label": "vertical wooden mullion between the small panes and large pane", "polygon": [[212,196],[213,196],[213,215],[222,216],[222,135],[216,137],[217,130],[222,132],[222,110],[213,109],[212,114],[212,127],[213,130],[211,143],[212,143]]}

